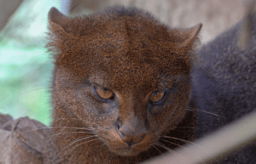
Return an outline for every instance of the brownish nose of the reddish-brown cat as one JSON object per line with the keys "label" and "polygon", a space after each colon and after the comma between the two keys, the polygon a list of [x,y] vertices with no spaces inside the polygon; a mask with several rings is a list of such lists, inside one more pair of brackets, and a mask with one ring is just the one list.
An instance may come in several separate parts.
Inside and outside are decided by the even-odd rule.
{"label": "brownish nose of the reddish-brown cat", "polygon": [[136,132],[131,131],[129,126],[117,126],[117,131],[119,133],[120,139],[122,139],[128,146],[133,146],[134,144],[139,144],[143,141],[146,130],[140,129]]}

